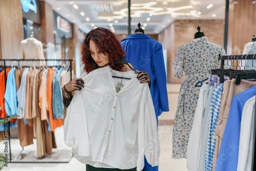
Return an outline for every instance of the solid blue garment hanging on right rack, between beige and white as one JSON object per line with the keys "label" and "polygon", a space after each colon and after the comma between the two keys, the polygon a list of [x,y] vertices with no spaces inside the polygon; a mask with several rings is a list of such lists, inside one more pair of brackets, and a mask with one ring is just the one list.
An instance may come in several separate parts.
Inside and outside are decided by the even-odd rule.
{"label": "solid blue garment hanging on right rack, between beige and white", "polygon": [[237,170],[243,107],[255,94],[256,86],[253,86],[233,97],[215,171]]}

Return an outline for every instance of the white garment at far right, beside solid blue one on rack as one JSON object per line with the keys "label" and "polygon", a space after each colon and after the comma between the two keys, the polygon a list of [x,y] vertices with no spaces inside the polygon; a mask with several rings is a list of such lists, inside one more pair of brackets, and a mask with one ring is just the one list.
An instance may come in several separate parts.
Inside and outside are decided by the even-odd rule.
{"label": "white garment at far right, beside solid blue one on rack", "polygon": [[238,171],[251,170],[256,96],[248,99],[243,108],[239,140]]}

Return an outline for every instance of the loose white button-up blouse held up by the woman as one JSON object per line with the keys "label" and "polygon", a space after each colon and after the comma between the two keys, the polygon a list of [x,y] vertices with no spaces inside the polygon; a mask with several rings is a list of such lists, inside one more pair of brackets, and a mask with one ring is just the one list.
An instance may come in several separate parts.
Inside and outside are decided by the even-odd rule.
{"label": "loose white button-up blouse held up by the woman", "polygon": [[[124,87],[116,93],[119,78]],[[94,167],[142,170],[144,155],[158,165],[160,146],[154,105],[147,83],[134,71],[118,72],[109,66],[83,77],[84,88],[76,91],[64,125],[65,143],[74,157]]]}

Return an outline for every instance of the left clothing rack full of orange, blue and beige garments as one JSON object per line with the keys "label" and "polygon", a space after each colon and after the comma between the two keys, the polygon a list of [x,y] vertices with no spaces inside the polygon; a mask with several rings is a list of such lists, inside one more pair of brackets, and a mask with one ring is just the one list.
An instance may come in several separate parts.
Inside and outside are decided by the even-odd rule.
{"label": "left clothing rack full of orange, blue and beige garments", "polygon": [[[3,80],[1,92],[4,101],[1,118],[18,115],[8,122],[9,160],[13,163],[66,163],[72,157],[55,160],[58,152],[54,131],[63,125],[65,109],[62,103],[61,87],[74,76],[73,59],[2,59],[0,79]],[[0,85],[1,86],[1,85]],[[3,90],[4,88],[4,90]],[[5,105],[6,104],[6,105]],[[4,109],[4,110],[3,110]],[[22,152],[12,158],[10,129],[17,127]],[[1,129],[1,127],[0,127]],[[3,130],[1,130],[3,131]],[[7,137],[4,136],[4,139]],[[33,144],[36,138],[36,153],[24,160],[24,147]],[[62,150],[62,149],[61,149]],[[60,153],[63,153],[62,151]],[[52,159],[51,156],[55,155]],[[59,157],[58,156],[58,157]],[[34,160],[35,159],[35,160]],[[59,160],[60,159],[60,160]]]}

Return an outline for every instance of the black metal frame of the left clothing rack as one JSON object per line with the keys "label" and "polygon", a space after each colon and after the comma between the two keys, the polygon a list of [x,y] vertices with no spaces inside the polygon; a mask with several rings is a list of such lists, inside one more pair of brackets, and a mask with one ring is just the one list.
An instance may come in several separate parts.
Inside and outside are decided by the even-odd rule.
{"label": "black metal frame of the left clothing rack", "polygon": [[[6,61],[66,61],[69,62],[69,69],[70,69],[70,80],[72,80],[72,61],[73,59],[1,59],[4,62],[4,71],[5,71],[5,87],[7,83],[7,75],[6,75]],[[49,66],[51,67],[51,66]],[[8,140],[9,140],[9,155],[10,155],[10,163],[49,163],[47,162],[12,162],[12,154],[11,154],[11,132],[10,132],[10,122],[8,122]],[[24,148],[22,148],[22,151]],[[63,162],[50,162],[50,163],[63,163]]]}

